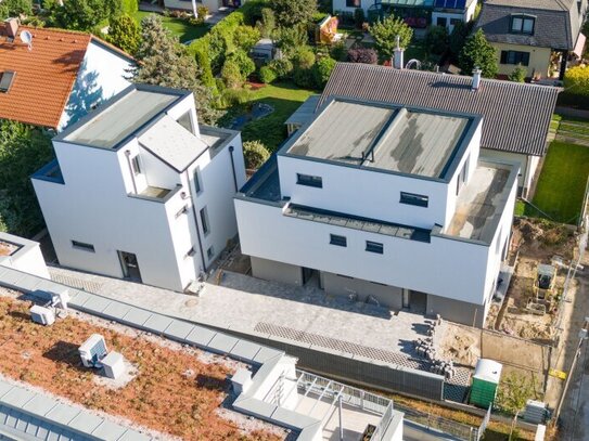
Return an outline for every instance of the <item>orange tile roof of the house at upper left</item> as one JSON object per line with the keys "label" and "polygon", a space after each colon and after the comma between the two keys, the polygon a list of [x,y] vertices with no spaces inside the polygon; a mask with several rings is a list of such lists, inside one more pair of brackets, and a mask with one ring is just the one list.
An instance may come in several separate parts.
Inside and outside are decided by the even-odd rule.
{"label": "orange tile roof of the house at upper left", "polygon": [[[21,40],[25,29],[33,34],[30,50]],[[113,48],[89,34],[27,26],[18,27],[10,42],[5,24],[0,24],[0,74],[16,73],[9,92],[0,92],[0,118],[57,128],[92,40]]]}

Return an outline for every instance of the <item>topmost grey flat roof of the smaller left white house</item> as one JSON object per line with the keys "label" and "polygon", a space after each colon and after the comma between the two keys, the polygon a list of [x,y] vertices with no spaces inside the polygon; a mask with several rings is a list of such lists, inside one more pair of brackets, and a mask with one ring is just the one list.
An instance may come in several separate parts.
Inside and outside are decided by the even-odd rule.
{"label": "topmost grey flat roof of the smaller left white house", "polygon": [[184,93],[133,85],[56,137],[56,140],[114,150]]}

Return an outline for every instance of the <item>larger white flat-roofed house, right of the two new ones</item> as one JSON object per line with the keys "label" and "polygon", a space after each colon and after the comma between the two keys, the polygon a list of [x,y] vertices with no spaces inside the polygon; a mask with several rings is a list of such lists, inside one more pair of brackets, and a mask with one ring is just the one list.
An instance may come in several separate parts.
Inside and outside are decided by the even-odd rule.
{"label": "larger white flat-roofed house, right of the two new ones", "polygon": [[481,326],[520,171],[479,159],[483,125],[330,98],[235,197],[253,275]]}

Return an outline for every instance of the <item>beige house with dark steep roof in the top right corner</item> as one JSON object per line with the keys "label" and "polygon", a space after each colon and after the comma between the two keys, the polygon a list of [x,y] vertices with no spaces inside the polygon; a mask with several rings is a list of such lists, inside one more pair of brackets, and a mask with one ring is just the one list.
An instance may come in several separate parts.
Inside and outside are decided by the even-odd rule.
{"label": "beige house with dark steep roof in the top right corner", "polygon": [[562,80],[569,55],[582,54],[586,13],[587,0],[487,0],[476,27],[497,50],[500,75],[521,64],[527,77],[551,77],[551,62],[560,56]]}

